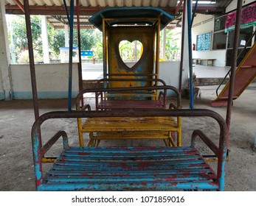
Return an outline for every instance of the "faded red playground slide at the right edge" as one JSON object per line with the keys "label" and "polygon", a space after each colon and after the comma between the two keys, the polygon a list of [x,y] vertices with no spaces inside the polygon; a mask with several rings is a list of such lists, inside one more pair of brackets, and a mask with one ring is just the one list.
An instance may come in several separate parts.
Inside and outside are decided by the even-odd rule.
{"label": "faded red playground slide at the right edge", "polygon": [[[256,42],[252,48],[243,58],[238,68],[235,70],[235,85],[233,100],[238,99],[244,90],[249,86],[251,82],[254,81],[256,77]],[[229,96],[229,84],[227,82],[221,93],[217,96],[215,100],[212,101],[212,107],[226,106],[228,96]]]}

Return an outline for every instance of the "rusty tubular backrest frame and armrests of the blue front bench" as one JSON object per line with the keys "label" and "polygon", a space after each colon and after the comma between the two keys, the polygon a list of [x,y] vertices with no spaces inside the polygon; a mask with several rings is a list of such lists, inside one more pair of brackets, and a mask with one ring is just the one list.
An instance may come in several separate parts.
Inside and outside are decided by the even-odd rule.
{"label": "rusty tubular backrest frame and armrests of the blue front bench", "polygon": [[[218,121],[218,125],[220,127],[220,139],[218,144],[218,151],[216,151],[217,147],[211,141],[208,141],[207,138],[204,138],[204,135],[201,135],[199,132],[193,134],[202,137],[204,142],[210,145],[210,148],[216,152],[218,155],[218,168],[217,168],[217,182],[218,189],[220,191],[224,191],[224,176],[225,176],[225,165],[226,165],[226,146],[227,146],[227,129],[224,118],[222,118],[218,113],[215,113],[211,110],[107,110],[107,111],[57,111],[51,113],[45,113],[43,116],[39,117],[37,121],[32,126],[32,151],[34,157],[34,165],[35,165],[35,185],[37,188],[40,188],[43,182],[43,169],[42,169],[42,157],[44,156],[46,150],[53,145],[53,143],[64,136],[64,148],[69,148],[67,146],[67,141],[65,137],[65,133],[59,132],[54,138],[51,138],[46,146],[41,146],[41,135],[40,128],[41,124],[49,118],[92,118],[92,117],[122,117],[122,116],[182,116],[182,117],[199,117],[206,116],[215,119]],[[194,142],[194,138],[192,143]],[[192,144],[193,146],[193,144]],[[191,182],[192,184],[192,182]],[[75,185],[70,184],[71,188],[75,187]],[[199,188],[200,189],[200,188]],[[65,190],[65,188],[63,188]]]}

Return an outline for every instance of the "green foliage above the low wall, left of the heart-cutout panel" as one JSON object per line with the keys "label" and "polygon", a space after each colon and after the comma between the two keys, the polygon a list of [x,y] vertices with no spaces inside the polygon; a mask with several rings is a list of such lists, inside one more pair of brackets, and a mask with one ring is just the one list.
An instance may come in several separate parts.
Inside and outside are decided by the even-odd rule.
{"label": "green foliage above the low wall, left of the heart-cutout panel", "polygon": [[[8,38],[11,44],[11,51],[15,53],[15,58],[22,57],[21,62],[26,59],[26,55],[21,54],[22,51],[27,50],[27,30],[24,15],[10,15],[8,25]],[[31,15],[31,29],[32,29],[32,44],[34,51],[39,57],[43,57],[43,46],[41,40],[41,17],[38,15]],[[53,51],[52,56],[58,57],[60,54],[60,47],[65,46],[64,29],[54,29],[48,24],[47,34],[49,40],[49,50]],[[90,50],[96,43],[94,37],[94,29],[80,30],[81,49]],[[74,30],[74,46],[78,46],[77,29]],[[39,58],[38,57],[38,58]],[[19,61],[19,60],[18,60]]]}

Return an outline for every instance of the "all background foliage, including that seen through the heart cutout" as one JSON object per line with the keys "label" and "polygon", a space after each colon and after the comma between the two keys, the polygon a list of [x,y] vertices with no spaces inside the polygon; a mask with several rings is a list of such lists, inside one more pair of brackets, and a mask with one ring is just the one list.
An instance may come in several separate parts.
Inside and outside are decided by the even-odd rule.
{"label": "all background foliage, including that seen through the heart cutout", "polygon": [[[23,62],[26,55],[21,54],[22,51],[27,49],[27,31],[24,15],[11,15],[12,21],[9,22],[8,38],[10,40],[10,47],[12,54],[15,53],[15,58],[21,58],[19,62]],[[31,15],[31,28],[32,28],[32,43],[33,49],[36,51],[38,59],[43,59],[43,46],[41,40],[41,17]],[[54,29],[48,24],[47,27],[49,51],[53,51],[52,57],[59,58],[60,47],[65,46],[64,29]],[[160,40],[162,42],[162,33]],[[180,46],[179,36],[176,35],[175,30],[166,30],[167,43],[165,45],[166,59],[176,60],[179,57]],[[81,29],[80,40],[82,50],[93,50],[95,59],[103,59],[103,34],[98,29]],[[77,29],[74,29],[73,46],[78,46]],[[120,43],[120,54],[122,60],[139,60],[142,45],[137,41],[136,54],[134,54],[134,43],[123,41]],[[12,55],[13,57],[13,55]]]}

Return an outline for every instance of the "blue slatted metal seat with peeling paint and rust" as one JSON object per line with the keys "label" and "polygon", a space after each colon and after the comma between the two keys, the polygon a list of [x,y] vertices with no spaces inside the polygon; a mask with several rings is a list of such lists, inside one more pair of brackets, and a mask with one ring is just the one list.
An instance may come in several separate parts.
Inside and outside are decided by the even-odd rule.
{"label": "blue slatted metal seat with peeling paint and rust", "polygon": [[72,147],[42,191],[216,190],[216,174],[193,147]]}

